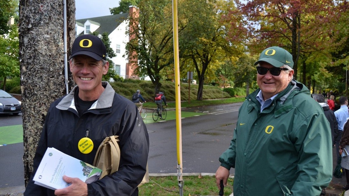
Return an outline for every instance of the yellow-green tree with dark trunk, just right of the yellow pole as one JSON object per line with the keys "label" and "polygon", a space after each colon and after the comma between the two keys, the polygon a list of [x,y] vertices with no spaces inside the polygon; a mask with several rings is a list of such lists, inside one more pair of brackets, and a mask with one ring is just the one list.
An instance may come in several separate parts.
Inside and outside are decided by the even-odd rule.
{"label": "yellow-green tree with dark trunk, just right of the yellow pole", "polygon": [[232,2],[194,0],[183,3],[187,3],[191,12],[184,14],[187,28],[179,34],[180,57],[192,60],[199,80],[196,99],[202,100],[205,80],[215,77],[215,70],[230,56],[242,54],[244,48],[239,42],[229,42],[230,21],[222,20],[230,9],[235,9]]}

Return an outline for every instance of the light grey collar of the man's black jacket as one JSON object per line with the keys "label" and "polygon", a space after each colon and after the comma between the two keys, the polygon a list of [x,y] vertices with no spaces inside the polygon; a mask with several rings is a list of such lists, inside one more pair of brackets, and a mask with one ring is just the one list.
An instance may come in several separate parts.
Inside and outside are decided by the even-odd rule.
{"label": "light grey collar of the man's black jacket", "polygon": [[[102,109],[102,108],[109,108],[112,106],[113,98],[115,94],[115,90],[111,87],[111,85],[108,82],[102,82],[102,86],[105,88],[102,92],[101,96],[97,99],[97,101],[92,104],[90,107],[91,109]],[[68,110],[68,108],[73,108],[76,111],[75,107],[75,101],[74,101],[74,95],[79,87],[76,85],[72,89],[72,91],[69,92],[68,95],[66,95],[56,106],[60,110]]]}

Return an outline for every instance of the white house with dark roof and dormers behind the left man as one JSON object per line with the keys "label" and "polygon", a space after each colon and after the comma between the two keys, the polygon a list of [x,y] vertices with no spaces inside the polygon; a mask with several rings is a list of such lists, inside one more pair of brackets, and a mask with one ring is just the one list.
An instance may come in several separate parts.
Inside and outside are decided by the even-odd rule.
{"label": "white house with dark roof and dormers behind the left man", "polygon": [[126,43],[129,41],[129,36],[126,35],[126,30],[128,30],[127,17],[135,11],[135,7],[130,7],[129,13],[76,20],[75,36],[97,31],[101,37],[104,32],[107,32],[111,42],[110,47],[116,54],[115,57],[111,58],[116,73],[123,78],[139,79],[133,74],[134,67],[128,63],[128,56],[122,57],[125,54]]}

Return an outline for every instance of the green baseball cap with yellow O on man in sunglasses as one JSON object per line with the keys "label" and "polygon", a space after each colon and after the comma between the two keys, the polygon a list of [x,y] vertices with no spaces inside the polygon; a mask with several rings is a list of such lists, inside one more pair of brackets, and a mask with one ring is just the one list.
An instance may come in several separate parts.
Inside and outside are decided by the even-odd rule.
{"label": "green baseball cap with yellow O on man in sunglasses", "polygon": [[289,65],[293,69],[292,55],[279,46],[272,46],[263,50],[258,61],[256,61],[254,65],[257,65],[261,61],[267,62],[274,67]]}

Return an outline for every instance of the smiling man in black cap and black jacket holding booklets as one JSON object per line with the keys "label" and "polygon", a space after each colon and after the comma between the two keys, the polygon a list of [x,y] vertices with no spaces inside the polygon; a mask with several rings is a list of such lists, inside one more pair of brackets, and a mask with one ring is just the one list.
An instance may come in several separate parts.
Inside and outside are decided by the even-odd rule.
{"label": "smiling man in black cap and black jacket holding booklets", "polygon": [[[146,173],[148,132],[135,104],[102,82],[109,69],[102,40],[92,35],[77,37],[69,67],[77,85],[68,95],[55,100],[47,112],[24,195],[138,195],[137,186]],[[113,135],[120,139],[117,172],[88,184],[65,174],[63,180],[71,184],[57,190],[34,184],[33,176],[48,147],[92,165],[99,144]],[[91,148],[79,149],[85,141]]]}

